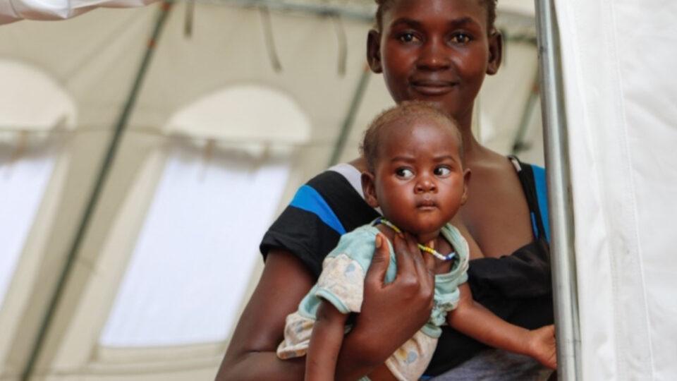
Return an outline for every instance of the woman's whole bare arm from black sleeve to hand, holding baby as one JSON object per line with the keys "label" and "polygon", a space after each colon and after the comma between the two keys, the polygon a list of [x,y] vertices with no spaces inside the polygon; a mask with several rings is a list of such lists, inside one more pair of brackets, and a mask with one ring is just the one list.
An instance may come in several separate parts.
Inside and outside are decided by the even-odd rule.
{"label": "woman's whole bare arm from black sleeve to hand, holding baby", "polygon": [[[374,252],[365,277],[362,312],[343,339],[337,379],[370,373],[422,327],[430,316],[434,276],[412,237],[396,238],[398,274],[384,284],[387,245]],[[430,256],[429,256],[430,257]],[[404,264],[402,266],[402,264]],[[285,318],[315,283],[303,263],[286,250],[271,250],[252,298],[221,363],[217,380],[300,380],[305,358],[279,360]]]}

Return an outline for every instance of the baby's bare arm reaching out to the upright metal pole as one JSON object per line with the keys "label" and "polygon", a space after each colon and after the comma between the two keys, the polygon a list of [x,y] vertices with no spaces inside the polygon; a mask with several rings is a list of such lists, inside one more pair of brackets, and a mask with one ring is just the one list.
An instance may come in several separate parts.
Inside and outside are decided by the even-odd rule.
{"label": "baby's bare arm reaching out to the upright metal pole", "polygon": [[475,303],[468,284],[458,288],[461,290],[458,307],[447,314],[453,329],[494,348],[531,356],[549,368],[557,367],[553,325],[533,331],[512,325]]}

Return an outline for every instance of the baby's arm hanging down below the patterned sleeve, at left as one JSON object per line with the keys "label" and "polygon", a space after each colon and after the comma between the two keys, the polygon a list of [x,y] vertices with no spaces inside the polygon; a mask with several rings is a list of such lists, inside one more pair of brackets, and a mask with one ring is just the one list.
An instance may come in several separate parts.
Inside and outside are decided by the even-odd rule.
{"label": "baby's arm hanging down below the patterned sleeve, at left", "polygon": [[305,359],[306,381],[334,380],[347,317],[328,301],[320,303]]}

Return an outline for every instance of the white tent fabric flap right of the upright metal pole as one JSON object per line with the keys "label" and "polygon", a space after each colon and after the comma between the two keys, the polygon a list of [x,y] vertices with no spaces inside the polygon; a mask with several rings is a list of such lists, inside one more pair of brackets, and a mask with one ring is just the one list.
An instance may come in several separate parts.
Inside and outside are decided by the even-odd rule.
{"label": "white tent fabric flap right of the upright metal pole", "polygon": [[677,377],[677,3],[556,1],[584,380]]}

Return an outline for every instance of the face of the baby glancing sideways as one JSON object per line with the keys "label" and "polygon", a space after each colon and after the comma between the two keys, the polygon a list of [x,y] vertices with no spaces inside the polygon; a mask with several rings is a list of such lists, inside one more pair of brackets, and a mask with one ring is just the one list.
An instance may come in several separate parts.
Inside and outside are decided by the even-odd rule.
{"label": "face of the baby glancing sideways", "polygon": [[442,121],[396,119],[384,126],[374,191],[386,219],[422,236],[439,231],[465,202],[458,135]]}

